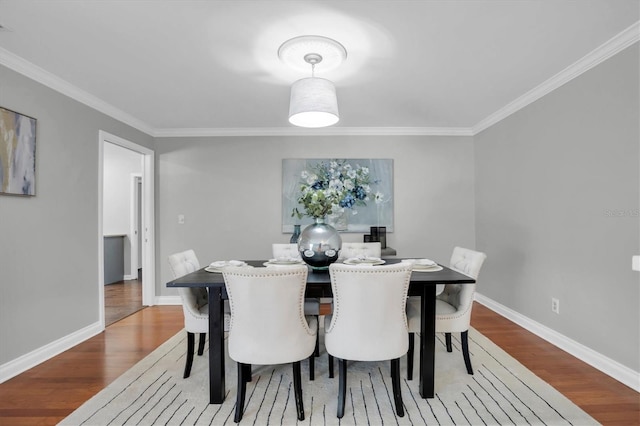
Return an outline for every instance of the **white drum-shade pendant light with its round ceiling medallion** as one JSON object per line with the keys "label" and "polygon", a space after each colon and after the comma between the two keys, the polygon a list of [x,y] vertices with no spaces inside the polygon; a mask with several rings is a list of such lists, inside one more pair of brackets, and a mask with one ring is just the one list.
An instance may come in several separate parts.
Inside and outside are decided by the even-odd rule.
{"label": "white drum-shade pendant light with its round ceiling medallion", "polygon": [[289,122],[300,127],[336,124],[340,120],[336,88],[331,81],[315,77],[315,71],[318,64],[323,71],[337,68],[347,57],[344,46],[322,36],[300,36],[284,42],[278,57],[294,69],[308,70],[311,66],[311,77],[291,86]]}

